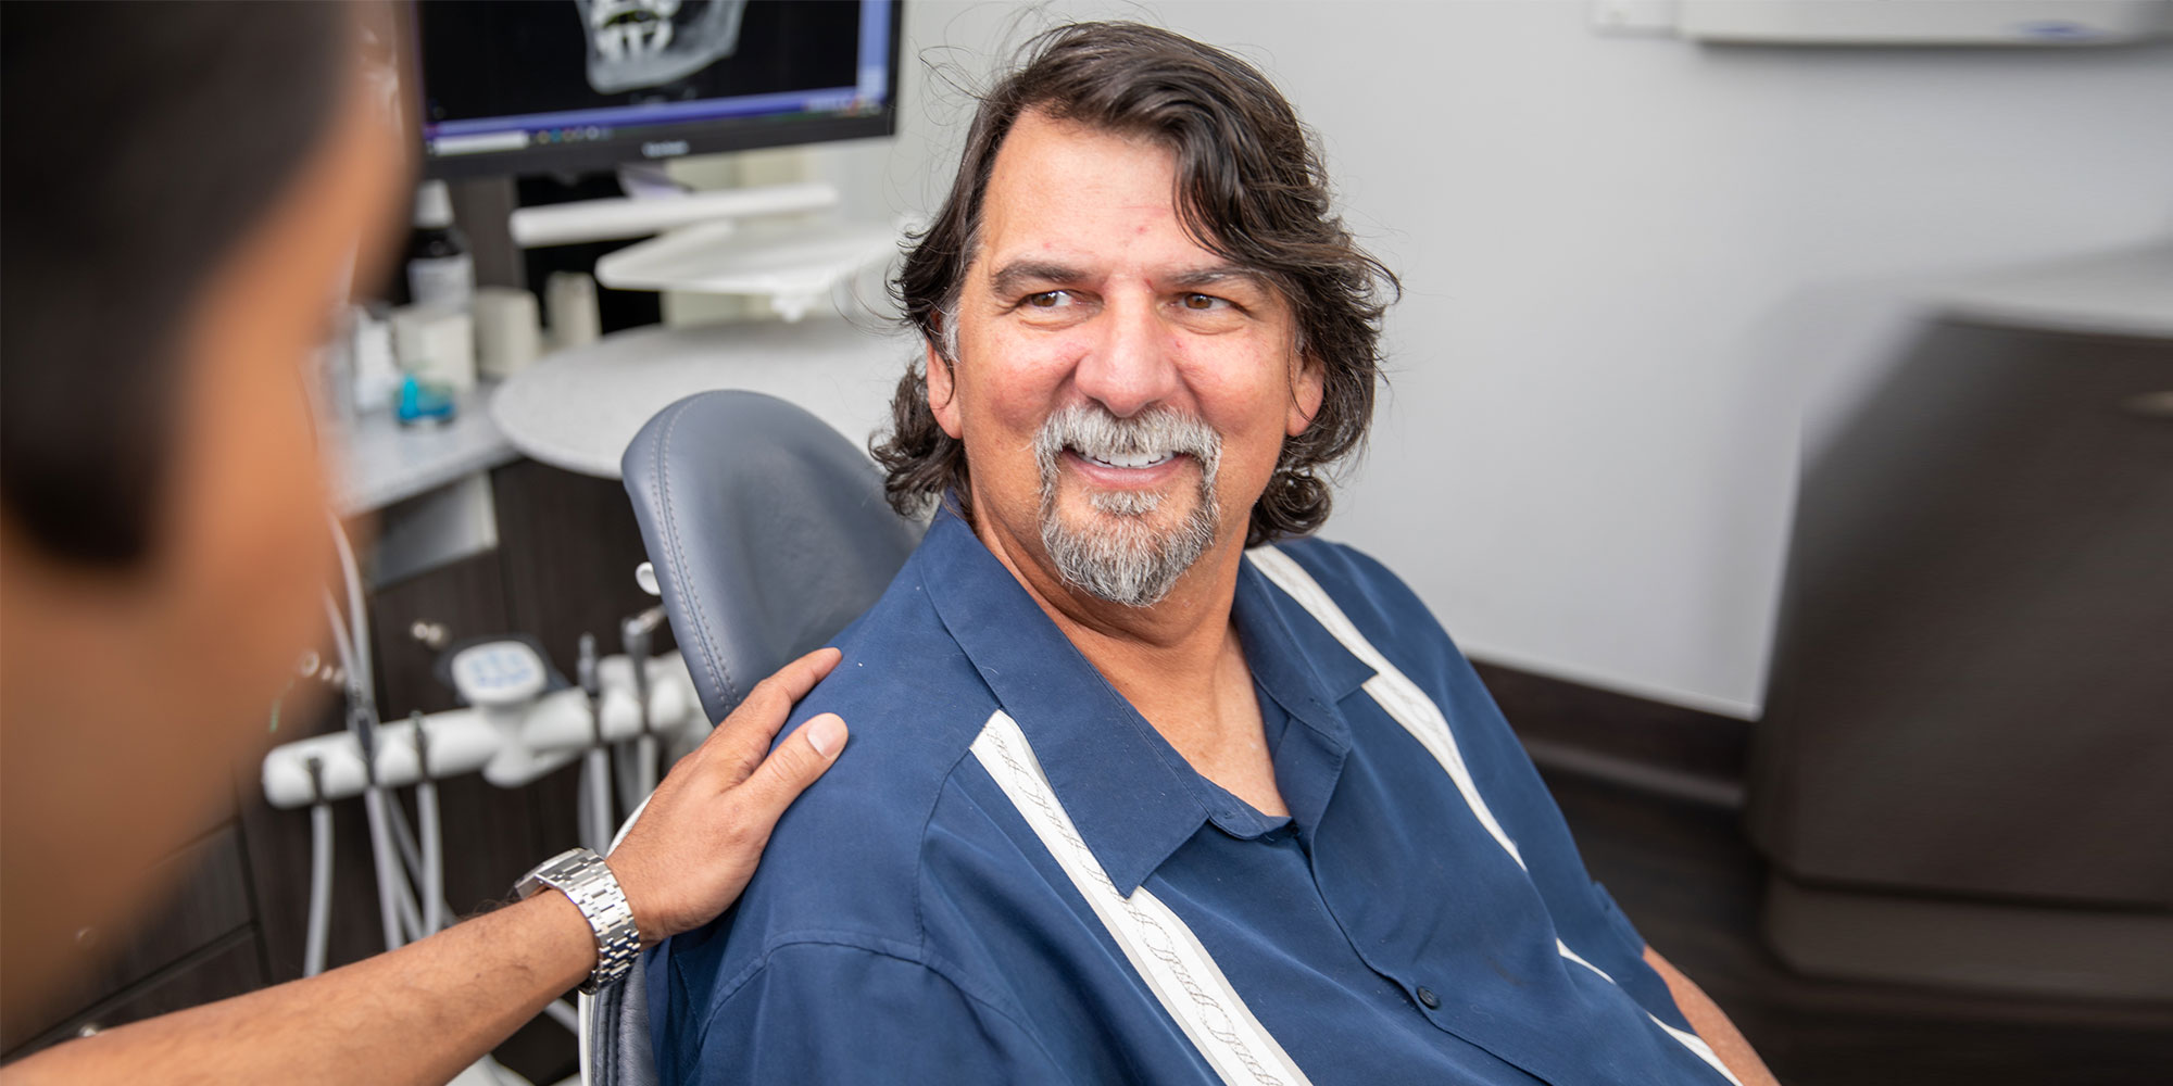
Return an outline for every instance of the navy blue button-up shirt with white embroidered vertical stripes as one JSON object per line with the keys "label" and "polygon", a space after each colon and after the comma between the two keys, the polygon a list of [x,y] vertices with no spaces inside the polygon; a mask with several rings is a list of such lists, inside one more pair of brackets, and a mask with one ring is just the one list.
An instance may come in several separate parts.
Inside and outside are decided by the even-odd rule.
{"label": "navy blue button-up shirt with white embroidered vertical stripes", "polygon": [[1395,576],[1263,547],[1232,621],[1289,817],[941,515],[795,710],[845,756],[650,958],[663,1079],[1725,1082]]}

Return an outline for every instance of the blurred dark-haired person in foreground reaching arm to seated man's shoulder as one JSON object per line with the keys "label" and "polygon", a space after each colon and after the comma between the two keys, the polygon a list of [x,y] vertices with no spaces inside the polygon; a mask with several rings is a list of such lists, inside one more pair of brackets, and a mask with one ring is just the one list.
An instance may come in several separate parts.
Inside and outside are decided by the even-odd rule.
{"label": "blurred dark-haired person in foreground reaching arm to seated man's shoulder", "polygon": [[[78,930],[159,899],[174,828],[230,795],[322,634],[337,567],[302,367],[413,180],[365,74],[382,17],[0,4],[0,1014],[50,999]],[[643,943],[730,906],[839,756],[837,717],[769,752],[834,662],[756,686],[611,854]],[[595,964],[589,921],[545,891],[0,1079],[445,1082]]]}

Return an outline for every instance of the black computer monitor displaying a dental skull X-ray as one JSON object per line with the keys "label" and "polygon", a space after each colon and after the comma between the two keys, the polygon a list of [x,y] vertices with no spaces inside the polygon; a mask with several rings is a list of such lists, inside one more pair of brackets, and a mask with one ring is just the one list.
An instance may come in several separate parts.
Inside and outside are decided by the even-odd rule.
{"label": "black computer monitor displaying a dental skull X-ray", "polygon": [[435,178],[897,128],[897,0],[419,0],[415,37]]}

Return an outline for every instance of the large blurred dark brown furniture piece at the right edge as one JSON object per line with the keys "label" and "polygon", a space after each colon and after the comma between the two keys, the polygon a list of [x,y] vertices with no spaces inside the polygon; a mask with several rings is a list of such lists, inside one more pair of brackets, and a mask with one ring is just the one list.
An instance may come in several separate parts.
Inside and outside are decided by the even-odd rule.
{"label": "large blurred dark brown furniture piece at the right edge", "polygon": [[1749,828],[1804,973],[2173,1006],[2173,341],[1936,324],[1806,476]]}

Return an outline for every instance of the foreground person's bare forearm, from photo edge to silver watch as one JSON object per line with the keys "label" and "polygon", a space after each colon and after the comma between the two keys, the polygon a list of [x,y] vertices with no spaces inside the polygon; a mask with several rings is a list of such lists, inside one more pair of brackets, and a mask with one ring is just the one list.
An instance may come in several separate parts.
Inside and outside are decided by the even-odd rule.
{"label": "foreground person's bare forearm, from photo edge to silver watch", "polygon": [[459,923],[393,954],[70,1040],[7,1069],[17,1082],[441,1084],[595,967],[561,893]]}

